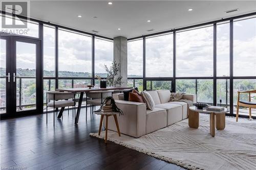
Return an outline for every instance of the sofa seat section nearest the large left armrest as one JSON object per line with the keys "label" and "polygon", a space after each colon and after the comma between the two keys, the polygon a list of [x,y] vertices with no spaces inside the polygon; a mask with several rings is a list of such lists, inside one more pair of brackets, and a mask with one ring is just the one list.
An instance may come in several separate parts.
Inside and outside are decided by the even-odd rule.
{"label": "sofa seat section nearest the large left armrest", "polygon": [[167,112],[165,109],[146,110],[146,134],[166,127]]}

